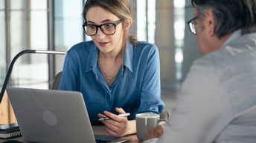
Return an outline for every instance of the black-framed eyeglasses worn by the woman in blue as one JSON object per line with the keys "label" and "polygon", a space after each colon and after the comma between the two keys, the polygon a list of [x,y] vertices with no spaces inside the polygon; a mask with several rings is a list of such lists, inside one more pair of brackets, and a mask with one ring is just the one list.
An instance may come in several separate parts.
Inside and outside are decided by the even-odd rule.
{"label": "black-framed eyeglasses worn by the woman in blue", "polygon": [[101,25],[94,25],[94,24],[83,24],[83,30],[88,36],[95,36],[97,34],[97,29],[106,34],[107,36],[111,36],[115,34],[115,27],[123,21],[122,19],[117,21],[115,24],[101,24]]}

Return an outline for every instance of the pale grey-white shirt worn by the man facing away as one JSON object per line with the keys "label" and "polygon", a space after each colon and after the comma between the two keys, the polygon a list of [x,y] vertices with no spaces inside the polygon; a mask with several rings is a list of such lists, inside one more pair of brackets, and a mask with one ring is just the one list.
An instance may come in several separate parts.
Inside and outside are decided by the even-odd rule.
{"label": "pale grey-white shirt worn by the man facing away", "polygon": [[144,143],[255,143],[256,33],[237,30],[194,61],[159,139]]}

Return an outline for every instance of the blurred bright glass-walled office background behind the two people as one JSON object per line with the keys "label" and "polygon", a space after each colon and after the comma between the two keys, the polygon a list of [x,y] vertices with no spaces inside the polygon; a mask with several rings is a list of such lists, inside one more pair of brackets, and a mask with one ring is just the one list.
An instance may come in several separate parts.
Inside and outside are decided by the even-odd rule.
{"label": "blurred bright glass-walled office background behind the two people", "polygon": [[[0,0],[0,87],[10,61],[22,50],[67,51],[91,40],[83,32],[86,0]],[[201,54],[188,29],[193,18],[189,0],[130,0],[133,23],[129,33],[159,48],[161,94],[167,110],[174,107],[191,64]],[[63,68],[65,56],[26,54],[13,67],[8,86],[49,89]],[[1,88],[0,88],[1,89]],[[0,124],[13,122],[6,96],[0,104]]]}

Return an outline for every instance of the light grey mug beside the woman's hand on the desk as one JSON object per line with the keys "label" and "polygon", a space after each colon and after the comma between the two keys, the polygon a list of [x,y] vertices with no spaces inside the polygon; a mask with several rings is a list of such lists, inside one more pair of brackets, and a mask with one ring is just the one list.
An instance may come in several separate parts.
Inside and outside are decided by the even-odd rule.
{"label": "light grey mug beside the woman's hand on the desk", "polygon": [[160,115],[156,113],[138,113],[136,114],[136,134],[139,140],[143,141],[147,130],[150,127],[155,127],[156,125],[163,124],[166,119],[159,119]]}

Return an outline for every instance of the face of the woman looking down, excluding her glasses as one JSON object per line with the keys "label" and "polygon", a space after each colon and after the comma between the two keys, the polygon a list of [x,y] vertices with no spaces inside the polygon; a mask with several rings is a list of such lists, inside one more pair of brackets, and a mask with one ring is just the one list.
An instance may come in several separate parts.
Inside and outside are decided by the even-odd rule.
{"label": "face of the woman looking down, excluding her glasses", "polygon": [[[115,24],[119,20],[121,19],[118,16],[109,13],[101,7],[91,7],[86,13],[87,24]],[[98,28],[96,35],[91,37],[100,52],[119,53],[122,48],[123,35],[124,30],[122,23],[120,23],[115,27],[115,34],[113,35],[106,35]]]}

